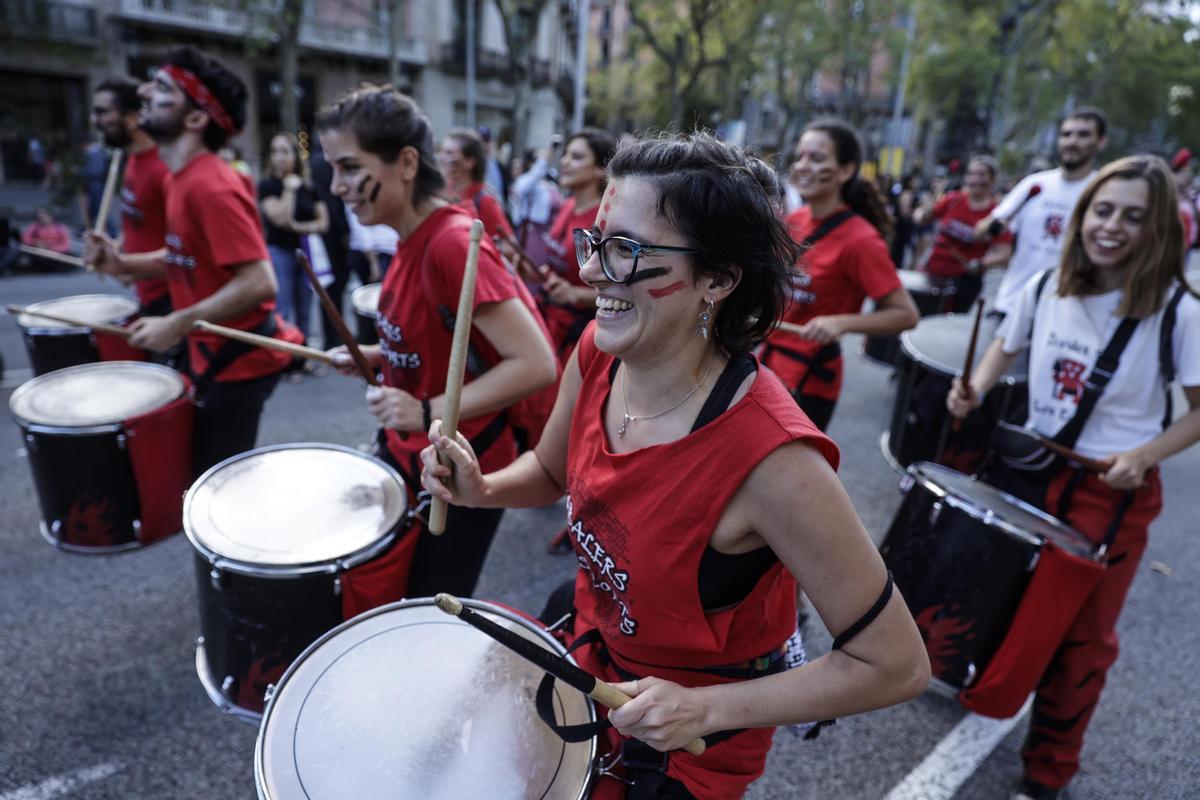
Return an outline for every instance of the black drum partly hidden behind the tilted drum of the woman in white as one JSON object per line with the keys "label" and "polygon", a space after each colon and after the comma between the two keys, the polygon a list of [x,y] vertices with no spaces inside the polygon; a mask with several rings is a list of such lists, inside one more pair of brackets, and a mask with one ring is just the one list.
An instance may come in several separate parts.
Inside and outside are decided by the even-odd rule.
{"label": "black drum partly hidden behind the tilted drum of the woman in white", "polygon": [[[900,368],[892,421],[881,446],[896,469],[919,461],[976,473],[988,452],[991,431],[1001,420],[1021,425],[1028,403],[1028,356],[1022,353],[967,415],[958,431],[946,410],[950,381],[962,371],[971,343],[973,314],[940,314],[922,319],[900,336]],[[996,335],[995,319],[984,318],[976,344],[976,365]]]}

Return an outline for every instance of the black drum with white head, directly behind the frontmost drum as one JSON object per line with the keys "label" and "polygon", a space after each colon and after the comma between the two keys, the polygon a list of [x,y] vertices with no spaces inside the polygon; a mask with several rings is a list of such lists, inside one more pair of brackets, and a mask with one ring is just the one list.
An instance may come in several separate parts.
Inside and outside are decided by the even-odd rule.
{"label": "black drum with white head, directly behind the frontmost drum", "polygon": [[337,445],[260,447],[196,481],[196,669],[222,711],[257,722],[266,686],[344,619],[343,572],[391,547],[406,506],[394,469]]}

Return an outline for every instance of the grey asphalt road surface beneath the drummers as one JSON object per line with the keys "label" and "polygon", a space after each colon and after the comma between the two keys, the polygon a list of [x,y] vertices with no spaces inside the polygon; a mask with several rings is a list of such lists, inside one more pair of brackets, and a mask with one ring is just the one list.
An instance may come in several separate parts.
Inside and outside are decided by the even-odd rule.
{"label": "grey asphalt road surface beneath the drummers", "polygon": [[[90,291],[119,289],[85,275],[0,279],[4,302]],[[847,344],[848,351],[857,347]],[[7,365],[0,401],[7,404],[29,374],[11,317],[0,317],[0,353]],[[901,500],[878,447],[892,393],[884,371],[847,357],[830,433],[842,450],[841,479],[876,540]],[[307,378],[276,391],[260,444],[355,445],[372,429],[356,381]],[[1121,620],[1123,652],[1091,727],[1076,800],[1200,796],[1200,699],[1192,673],[1200,656],[1198,476],[1196,449],[1164,468],[1165,511]],[[187,540],[109,558],[71,555],[38,536],[38,516],[18,429],[0,425],[0,800],[253,798],[256,729],[221,715],[196,678],[199,622]],[[536,612],[572,571],[571,559],[545,553],[562,519],[562,507],[508,512],[478,595]],[[828,648],[818,621],[808,633],[811,650]],[[960,723],[973,724],[964,716],[955,702],[928,693],[842,720],[817,741],[779,732],[767,772],[748,796],[1006,798],[1019,774],[1022,724],[1000,738],[977,769],[962,768],[952,781],[961,783],[956,793],[937,788],[950,781],[955,758],[943,739],[961,732]],[[928,788],[895,788],[928,758],[936,764],[922,784]]]}

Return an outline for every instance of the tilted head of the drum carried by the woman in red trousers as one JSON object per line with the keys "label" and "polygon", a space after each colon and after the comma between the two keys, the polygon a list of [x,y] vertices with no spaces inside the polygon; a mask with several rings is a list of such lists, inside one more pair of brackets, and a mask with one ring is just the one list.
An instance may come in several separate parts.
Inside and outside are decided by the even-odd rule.
{"label": "tilted head of the drum carried by the woman in red trousers", "polygon": [[908,471],[931,492],[940,497],[949,495],[955,505],[976,517],[990,522],[1000,521],[1039,541],[1051,541],[1081,558],[1096,558],[1096,546],[1078,530],[1007,492],[930,462],[913,464]]}

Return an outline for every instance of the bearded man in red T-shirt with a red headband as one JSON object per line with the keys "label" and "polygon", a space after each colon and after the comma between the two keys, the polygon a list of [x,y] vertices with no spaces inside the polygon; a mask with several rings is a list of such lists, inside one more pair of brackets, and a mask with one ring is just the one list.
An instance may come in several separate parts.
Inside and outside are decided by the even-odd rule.
{"label": "bearded man in red T-shirt with a red headband", "polygon": [[138,90],[142,128],[158,145],[167,178],[166,254],[130,264],[104,242],[104,271],[124,264],[134,277],[164,275],[174,311],[133,323],[130,343],[164,351],[188,344],[196,383],[197,474],[250,450],[263,405],[290,356],[196,331],[198,320],[300,342],[275,313],[254,197],[218,156],[246,119],[246,88],[221,64],[191,48],[173,50]]}

